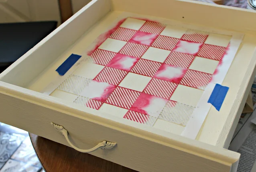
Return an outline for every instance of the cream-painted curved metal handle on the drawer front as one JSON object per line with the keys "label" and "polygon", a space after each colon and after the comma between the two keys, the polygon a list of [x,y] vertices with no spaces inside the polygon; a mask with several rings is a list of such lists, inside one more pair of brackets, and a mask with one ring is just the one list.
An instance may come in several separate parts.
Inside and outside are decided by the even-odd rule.
{"label": "cream-painted curved metal handle on the drawer front", "polygon": [[116,143],[113,142],[107,142],[107,141],[103,141],[100,142],[99,144],[97,144],[95,147],[91,148],[91,149],[79,149],[76,146],[74,146],[68,138],[68,132],[67,130],[65,130],[65,128],[63,128],[63,126],[59,126],[57,124],[54,124],[53,122],[51,122],[51,125],[55,128],[55,130],[57,130],[59,133],[61,133],[67,140],[67,142],[69,143],[69,145],[74,148],[75,150],[79,151],[79,152],[83,152],[83,153],[89,153],[89,152],[93,152],[94,150],[97,150],[98,148],[101,149],[112,149],[114,148],[114,146],[116,146]]}

